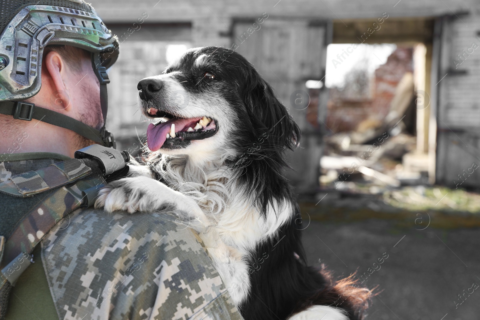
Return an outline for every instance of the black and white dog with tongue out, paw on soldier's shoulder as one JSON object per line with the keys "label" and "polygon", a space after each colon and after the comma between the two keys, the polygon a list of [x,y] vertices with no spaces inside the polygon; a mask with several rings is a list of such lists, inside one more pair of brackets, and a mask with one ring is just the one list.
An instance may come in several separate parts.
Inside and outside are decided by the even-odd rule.
{"label": "black and white dog with tongue out, paw on soldier's shoulder", "polygon": [[[137,177],[101,190],[108,212],[174,206],[200,232],[246,320],[359,320],[371,291],[307,266],[282,171],[300,130],[246,59],[189,50],[138,84],[152,151]],[[140,173],[140,174],[138,174]]]}

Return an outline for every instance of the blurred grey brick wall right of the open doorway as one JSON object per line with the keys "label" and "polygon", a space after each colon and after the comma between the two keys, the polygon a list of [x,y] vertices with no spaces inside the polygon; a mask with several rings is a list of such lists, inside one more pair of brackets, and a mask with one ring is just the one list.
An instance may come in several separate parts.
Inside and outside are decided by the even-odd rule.
{"label": "blurred grey brick wall right of the open doorway", "polygon": [[[452,187],[462,182],[463,170],[480,165],[480,12],[473,13],[444,22],[436,172],[437,182]],[[480,188],[480,170],[460,186]]]}

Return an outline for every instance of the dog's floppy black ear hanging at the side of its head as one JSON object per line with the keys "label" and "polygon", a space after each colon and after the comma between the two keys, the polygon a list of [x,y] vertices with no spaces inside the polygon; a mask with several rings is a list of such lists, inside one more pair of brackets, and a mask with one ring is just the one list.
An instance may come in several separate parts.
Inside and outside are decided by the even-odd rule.
{"label": "dog's floppy black ear hanging at the side of its head", "polygon": [[300,144],[300,128],[278,101],[270,84],[254,73],[245,95],[245,104],[255,134],[269,146],[285,150]]}

